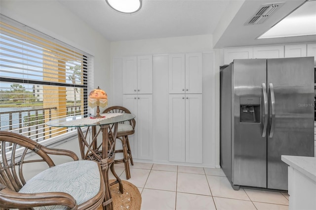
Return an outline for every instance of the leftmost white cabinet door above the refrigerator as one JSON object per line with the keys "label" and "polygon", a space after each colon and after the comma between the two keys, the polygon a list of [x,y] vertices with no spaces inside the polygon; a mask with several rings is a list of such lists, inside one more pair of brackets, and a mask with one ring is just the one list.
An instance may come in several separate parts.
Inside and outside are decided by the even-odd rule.
{"label": "leftmost white cabinet door above the refrigerator", "polygon": [[252,47],[229,48],[224,49],[224,64],[229,65],[234,59],[250,59],[253,58]]}

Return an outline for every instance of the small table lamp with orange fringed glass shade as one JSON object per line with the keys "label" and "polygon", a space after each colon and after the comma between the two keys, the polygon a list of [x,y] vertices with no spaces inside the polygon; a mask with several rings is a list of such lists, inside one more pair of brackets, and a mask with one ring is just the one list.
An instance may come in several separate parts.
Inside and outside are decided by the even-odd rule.
{"label": "small table lamp with orange fringed glass shade", "polygon": [[88,104],[90,107],[94,108],[95,106],[97,106],[97,114],[92,117],[92,118],[102,118],[102,117],[105,117],[105,116],[101,116],[99,113],[100,113],[100,108],[99,106],[101,107],[106,107],[108,105],[108,95],[106,94],[106,92],[102,89],[98,88],[97,89],[94,89],[92,90],[90,93],[89,93],[89,96],[88,96]]}

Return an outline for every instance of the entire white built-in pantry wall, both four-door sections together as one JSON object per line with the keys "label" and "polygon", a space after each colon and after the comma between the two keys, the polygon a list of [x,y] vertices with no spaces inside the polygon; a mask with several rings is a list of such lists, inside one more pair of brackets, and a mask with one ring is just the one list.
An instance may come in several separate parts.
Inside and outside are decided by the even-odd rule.
{"label": "entire white built-in pantry wall, both four-door sections together", "polygon": [[204,94],[211,90],[208,88],[210,82],[203,82],[212,79],[211,66],[207,62],[212,57],[208,54],[113,59],[111,101],[136,115],[135,134],[129,136],[134,159],[162,164],[209,164],[211,153],[205,152],[209,149],[202,146],[212,146],[211,138],[204,141],[202,138],[202,122],[207,128],[210,126],[210,113],[202,116],[202,101],[214,101],[209,99],[212,94]]}

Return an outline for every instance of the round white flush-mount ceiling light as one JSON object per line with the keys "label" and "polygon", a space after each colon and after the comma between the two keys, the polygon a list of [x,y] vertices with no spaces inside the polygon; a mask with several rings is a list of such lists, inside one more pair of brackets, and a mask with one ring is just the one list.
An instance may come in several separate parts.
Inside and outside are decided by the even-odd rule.
{"label": "round white flush-mount ceiling light", "polygon": [[106,0],[106,2],[114,10],[125,14],[135,13],[142,7],[142,0]]}

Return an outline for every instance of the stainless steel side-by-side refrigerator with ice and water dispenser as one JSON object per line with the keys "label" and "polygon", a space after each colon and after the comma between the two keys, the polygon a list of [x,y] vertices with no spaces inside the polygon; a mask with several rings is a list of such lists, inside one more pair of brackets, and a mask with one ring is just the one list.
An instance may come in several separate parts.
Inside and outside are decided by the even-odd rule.
{"label": "stainless steel side-by-side refrigerator with ice and water dispenser", "polygon": [[234,189],[287,190],[281,155],[314,156],[314,58],[234,60],[220,71],[220,165]]}

